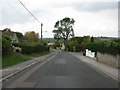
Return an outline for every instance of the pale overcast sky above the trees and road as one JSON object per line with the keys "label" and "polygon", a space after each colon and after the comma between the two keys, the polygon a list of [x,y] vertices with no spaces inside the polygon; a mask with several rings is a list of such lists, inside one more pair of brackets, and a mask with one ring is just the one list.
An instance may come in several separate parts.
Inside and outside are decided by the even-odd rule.
{"label": "pale overcast sky above the trees and road", "polygon": [[[75,36],[118,37],[118,0],[20,0],[43,23],[43,37],[53,37],[58,20],[74,18]],[[108,2],[109,1],[109,2]],[[0,0],[0,30],[40,34],[37,22],[19,0]]]}

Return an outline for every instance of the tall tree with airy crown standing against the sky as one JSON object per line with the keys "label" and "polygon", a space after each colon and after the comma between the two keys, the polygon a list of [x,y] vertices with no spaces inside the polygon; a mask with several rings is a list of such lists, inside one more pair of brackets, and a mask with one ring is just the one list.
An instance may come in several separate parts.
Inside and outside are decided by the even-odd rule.
{"label": "tall tree with airy crown standing against the sky", "polygon": [[64,19],[57,21],[54,26],[53,33],[54,39],[63,39],[65,50],[67,50],[67,42],[69,37],[74,36],[73,25],[75,20],[73,18],[65,17]]}

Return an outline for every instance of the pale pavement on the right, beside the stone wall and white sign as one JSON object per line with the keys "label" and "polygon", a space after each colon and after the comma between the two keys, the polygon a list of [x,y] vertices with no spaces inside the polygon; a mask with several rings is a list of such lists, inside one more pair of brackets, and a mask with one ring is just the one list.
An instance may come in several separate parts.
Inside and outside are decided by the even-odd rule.
{"label": "pale pavement on the right, beside the stone wall and white sign", "polygon": [[82,53],[77,53],[77,52],[69,52],[71,55],[74,55],[81,61],[87,63],[89,66],[109,75],[110,77],[118,80],[118,72],[119,70],[117,68],[111,67],[109,65],[97,62],[95,58],[90,58],[83,56]]}

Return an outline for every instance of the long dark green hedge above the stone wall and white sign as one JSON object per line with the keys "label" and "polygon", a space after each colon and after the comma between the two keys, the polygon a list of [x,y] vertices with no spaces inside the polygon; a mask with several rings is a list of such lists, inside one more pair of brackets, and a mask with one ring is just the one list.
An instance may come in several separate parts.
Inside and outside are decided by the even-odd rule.
{"label": "long dark green hedge above the stone wall and white sign", "polygon": [[84,49],[89,49],[92,52],[120,54],[120,42],[105,43],[105,42],[89,42],[84,45]]}

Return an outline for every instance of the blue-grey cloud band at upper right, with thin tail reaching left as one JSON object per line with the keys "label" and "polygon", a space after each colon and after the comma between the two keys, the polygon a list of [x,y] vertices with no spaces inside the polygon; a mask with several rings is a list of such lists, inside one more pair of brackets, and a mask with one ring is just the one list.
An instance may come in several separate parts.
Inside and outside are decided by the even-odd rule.
{"label": "blue-grey cloud band at upper right, with thin tail reaching left", "polygon": [[73,7],[77,11],[99,12],[108,9],[117,9],[118,2],[73,2],[55,5],[56,7]]}

